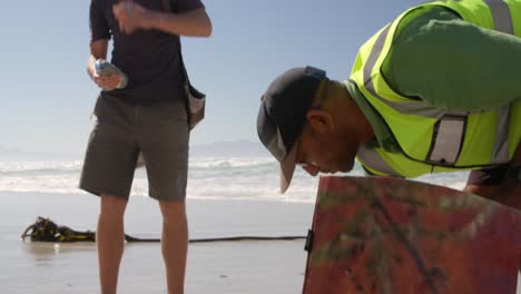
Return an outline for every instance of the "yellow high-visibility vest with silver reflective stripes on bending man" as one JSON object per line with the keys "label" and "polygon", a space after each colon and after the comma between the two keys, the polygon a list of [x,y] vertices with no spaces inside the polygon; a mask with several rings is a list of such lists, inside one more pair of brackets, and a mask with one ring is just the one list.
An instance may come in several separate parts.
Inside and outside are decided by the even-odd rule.
{"label": "yellow high-visibility vest with silver reflective stripes on bending man", "polygon": [[449,8],[475,26],[521,37],[521,0],[446,0],[411,8],[365,42],[351,81],[381,115],[402,150],[358,149],[358,161],[372,174],[416,177],[495,166],[509,163],[520,143],[519,99],[498,109],[451,111],[403,97],[382,77],[382,65],[404,16],[430,6]]}

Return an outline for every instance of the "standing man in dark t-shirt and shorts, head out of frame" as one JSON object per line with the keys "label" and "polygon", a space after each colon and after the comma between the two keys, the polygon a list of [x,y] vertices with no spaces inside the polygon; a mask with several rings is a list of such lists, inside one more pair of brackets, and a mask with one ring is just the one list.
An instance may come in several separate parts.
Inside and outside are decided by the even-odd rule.
{"label": "standing man in dark t-shirt and shorts, head out of frame", "polygon": [[[187,114],[179,36],[208,37],[212,23],[200,0],[91,0],[87,71],[101,88],[95,108],[80,188],[101,198],[97,228],[101,293],[116,293],[124,251],[124,213],[138,154],[149,195],[159,200],[168,293],[183,293],[188,228]],[[107,58],[121,75],[100,76]]]}

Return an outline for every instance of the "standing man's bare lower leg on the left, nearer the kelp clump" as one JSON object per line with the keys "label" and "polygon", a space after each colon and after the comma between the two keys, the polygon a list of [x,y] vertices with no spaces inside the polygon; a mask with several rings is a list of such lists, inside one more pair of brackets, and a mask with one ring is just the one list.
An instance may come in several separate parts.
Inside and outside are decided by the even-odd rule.
{"label": "standing man's bare lower leg on the left, nearer the kelp clump", "polygon": [[124,214],[126,207],[126,199],[101,195],[101,212],[96,233],[101,294],[116,294],[125,243]]}

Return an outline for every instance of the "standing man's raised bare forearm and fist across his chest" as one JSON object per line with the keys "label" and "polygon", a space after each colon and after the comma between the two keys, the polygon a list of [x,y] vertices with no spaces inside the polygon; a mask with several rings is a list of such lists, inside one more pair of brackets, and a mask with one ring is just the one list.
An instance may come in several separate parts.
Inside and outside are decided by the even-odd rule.
{"label": "standing man's raised bare forearm and fist across his chest", "polygon": [[148,10],[132,1],[121,1],[112,10],[121,31],[126,33],[132,33],[136,29],[157,29],[178,36],[212,35],[212,22],[204,8],[174,14]]}

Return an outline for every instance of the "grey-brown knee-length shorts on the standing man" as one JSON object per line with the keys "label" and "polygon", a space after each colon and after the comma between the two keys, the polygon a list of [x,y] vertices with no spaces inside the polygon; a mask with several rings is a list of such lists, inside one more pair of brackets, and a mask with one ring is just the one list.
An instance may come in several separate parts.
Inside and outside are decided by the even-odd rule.
{"label": "grey-brown knee-length shorts on the standing man", "polygon": [[185,199],[189,130],[181,100],[140,106],[100,96],[95,115],[81,189],[128,199],[141,151],[149,196],[161,202]]}

